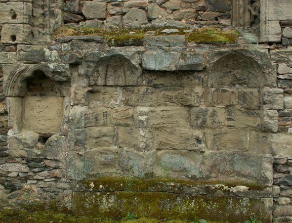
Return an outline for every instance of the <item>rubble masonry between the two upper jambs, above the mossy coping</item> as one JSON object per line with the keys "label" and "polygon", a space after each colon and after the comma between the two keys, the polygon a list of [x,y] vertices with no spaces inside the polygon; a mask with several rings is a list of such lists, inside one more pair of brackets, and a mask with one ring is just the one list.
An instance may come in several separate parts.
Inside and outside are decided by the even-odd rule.
{"label": "rubble masonry between the two upper jambs, above the mossy coping", "polygon": [[114,27],[225,26],[231,25],[231,0],[67,0],[64,23]]}

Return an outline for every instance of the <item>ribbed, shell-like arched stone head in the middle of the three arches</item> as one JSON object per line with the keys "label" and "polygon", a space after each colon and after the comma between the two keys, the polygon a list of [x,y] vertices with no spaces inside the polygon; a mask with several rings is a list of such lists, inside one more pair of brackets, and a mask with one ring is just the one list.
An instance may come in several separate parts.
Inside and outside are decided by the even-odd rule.
{"label": "ribbed, shell-like arched stone head in the middle of the three arches", "polygon": [[89,86],[131,86],[142,70],[122,54],[102,57],[89,73]]}

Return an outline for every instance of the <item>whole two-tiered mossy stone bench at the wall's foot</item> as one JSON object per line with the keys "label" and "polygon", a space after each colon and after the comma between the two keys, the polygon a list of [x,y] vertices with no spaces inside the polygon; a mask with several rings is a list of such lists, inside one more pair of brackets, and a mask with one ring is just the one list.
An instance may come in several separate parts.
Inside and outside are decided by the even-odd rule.
{"label": "whole two-tiered mossy stone bench at the wall's foot", "polygon": [[271,188],[190,179],[90,178],[73,192],[77,215],[244,222],[272,221]]}

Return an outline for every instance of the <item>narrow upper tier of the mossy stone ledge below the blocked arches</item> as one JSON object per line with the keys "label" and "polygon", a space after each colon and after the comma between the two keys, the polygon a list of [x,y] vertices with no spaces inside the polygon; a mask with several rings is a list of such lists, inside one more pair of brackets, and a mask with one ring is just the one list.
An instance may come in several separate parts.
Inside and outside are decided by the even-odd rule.
{"label": "narrow upper tier of the mossy stone ledge below the blocked arches", "polygon": [[186,178],[126,178],[104,176],[76,184],[75,191],[90,192],[167,192],[181,195],[271,197],[272,189],[257,183],[230,180],[192,180]]}

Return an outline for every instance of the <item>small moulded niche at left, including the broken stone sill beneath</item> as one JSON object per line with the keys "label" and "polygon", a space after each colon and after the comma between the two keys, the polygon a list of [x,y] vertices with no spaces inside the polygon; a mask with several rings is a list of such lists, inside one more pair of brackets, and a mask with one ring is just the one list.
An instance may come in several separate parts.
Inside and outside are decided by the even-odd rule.
{"label": "small moulded niche at left, including the broken stone sill beneath", "polygon": [[10,154],[47,157],[52,141],[64,137],[61,136],[63,114],[69,101],[64,85],[69,84],[68,80],[59,81],[60,73],[47,65],[21,67],[4,78]]}

